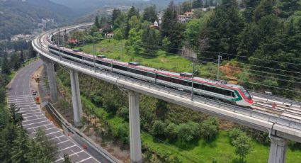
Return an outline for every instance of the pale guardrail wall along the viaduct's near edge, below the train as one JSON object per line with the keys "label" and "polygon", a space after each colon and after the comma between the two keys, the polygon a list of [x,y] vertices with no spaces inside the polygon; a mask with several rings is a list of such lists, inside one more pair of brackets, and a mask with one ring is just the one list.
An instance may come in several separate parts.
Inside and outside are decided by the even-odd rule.
{"label": "pale guardrail wall along the viaduct's near edge, below the train", "polygon": [[[37,39],[39,39],[39,38],[37,38]],[[40,41],[40,43],[42,44],[41,41]],[[44,48],[44,52],[45,52],[45,50],[47,51],[47,49],[45,47],[43,47],[43,48]],[[55,57],[55,58],[57,58],[57,60],[60,60],[62,62],[67,62],[69,64],[74,64],[74,65],[76,65],[78,67],[81,67],[81,68],[84,68],[84,69],[89,69],[92,72],[95,70],[95,68],[92,67],[92,66],[88,66],[88,65],[85,65],[85,64],[80,64],[79,62],[74,62],[74,61],[71,61],[71,60],[66,60],[62,57],[58,57],[57,55],[53,55],[53,54],[48,53],[48,52],[47,52],[47,55],[50,55],[51,57]],[[138,79],[132,79],[130,77],[125,77],[125,76],[120,75],[120,74],[114,74],[112,72],[108,72],[108,71],[105,71],[105,70],[96,69],[96,73],[104,74],[108,77],[113,77],[115,79],[131,82],[132,84],[145,86],[149,89],[162,91],[162,92],[165,92],[167,94],[171,94],[171,95],[174,95],[174,96],[179,96],[181,98],[186,98],[186,99],[191,98],[191,94],[187,94],[183,91],[178,91],[178,90],[175,90],[175,89],[169,89],[169,88],[166,88],[164,86],[158,86],[158,85],[146,82],[146,81],[141,81],[141,80],[138,80]],[[227,104],[227,103],[222,103],[220,101],[214,101],[212,99],[207,99],[205,97],[200,97],[200,96],[194,96],[193,101],[197,101],[197,102],[200,102],[200,103],[205,103],[205,104],[208,104],[210,106],[215,106],[217,108],[222,108],[222,109],[225,109],[227,111],[232,111],[234,113],[240,113],[242,115],[250,116],[252,118],[258,118],[260,120],[266,120],[267,122],[270,122],[270,123],[277,123],[277,124],[284,125],[284,126],[289,127],[289,128],[294,128],[294,129],[297,129],[297,130],[301,130],[301,120],[298,120],[298,119],[295,119],[295,118],[290,118],[290,117],[280,116],[280,115],[276,115],[276,114],[266,113],[264,111],[255,111],[253,109],[243,108],[241,106],[235,106],[235,105],[231,105],[231,104]]]}

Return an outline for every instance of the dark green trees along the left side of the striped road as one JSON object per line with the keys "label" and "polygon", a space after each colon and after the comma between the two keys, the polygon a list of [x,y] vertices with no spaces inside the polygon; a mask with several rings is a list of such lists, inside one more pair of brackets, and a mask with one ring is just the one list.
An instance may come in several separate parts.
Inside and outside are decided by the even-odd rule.
{"label": "dark green trees along the left side of the striped road", "polygon": [[6,85],[23,65],[30,64],[35,52],[16,52],[11,57],[4,54],[0,73],[0,160],[1,162],[53,162],[57,147],[38,129],[35,139],[28,136],[22,126],[23,116],[15,104],[7,106]]}

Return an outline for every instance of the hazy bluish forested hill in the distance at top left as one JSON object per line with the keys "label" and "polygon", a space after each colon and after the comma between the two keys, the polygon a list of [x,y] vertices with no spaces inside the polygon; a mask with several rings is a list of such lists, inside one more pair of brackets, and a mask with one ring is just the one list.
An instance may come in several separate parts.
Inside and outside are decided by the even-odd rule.
{"label": "hazy bluish forested hill in the distance at top left", "polygon": [[72,12],[49,0],[0,0],[0,40],[69,21]]}

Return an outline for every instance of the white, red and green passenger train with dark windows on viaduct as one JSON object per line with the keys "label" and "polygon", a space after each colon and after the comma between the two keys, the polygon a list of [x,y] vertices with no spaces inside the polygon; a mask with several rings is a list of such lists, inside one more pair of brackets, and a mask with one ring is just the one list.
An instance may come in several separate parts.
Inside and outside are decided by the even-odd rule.
{"label": "white, red and green passenger train with dark windows on viaduct", "polygon": [[[87,55],[79,50],[71,50],[60,45],[54,45],[50,40],[48,50],[54,55],[81,62],[83,64],[94,65],[93,56]],[[118,62],[110,60],[103,55],[98,55],[95,59],[95,65],[99,69],[106,69],[110,72],[123,74],[127,77],[149,81],[154,84],[168,86],[173,89],[191,92],[192,74],[174,73],[165,70],[144,67],[137,62]],[[237,106],[250,107],[253,103],[250,94],[243,86],[226,84],[220,81],[212,81],[200,77],[193,78],[193,93],[196,96],[207,96],[212,99],[233,103]]]}

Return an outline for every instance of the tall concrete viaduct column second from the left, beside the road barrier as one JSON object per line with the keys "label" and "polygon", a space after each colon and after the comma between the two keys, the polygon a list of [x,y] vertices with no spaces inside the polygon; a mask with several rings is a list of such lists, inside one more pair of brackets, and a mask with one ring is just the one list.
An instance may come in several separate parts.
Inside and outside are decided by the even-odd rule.
{"label": "tall concrete viaduct column second from the left, beside the road barrier", "polygon": [[71,79],[74,125],[76,127],[79,127],[81,125],[81,117],[83,116],[83,109],[81,108],[81,93],[79,91],[79,76],[78,76],[78,73],[72,69],[70,69],[70,79]]}

